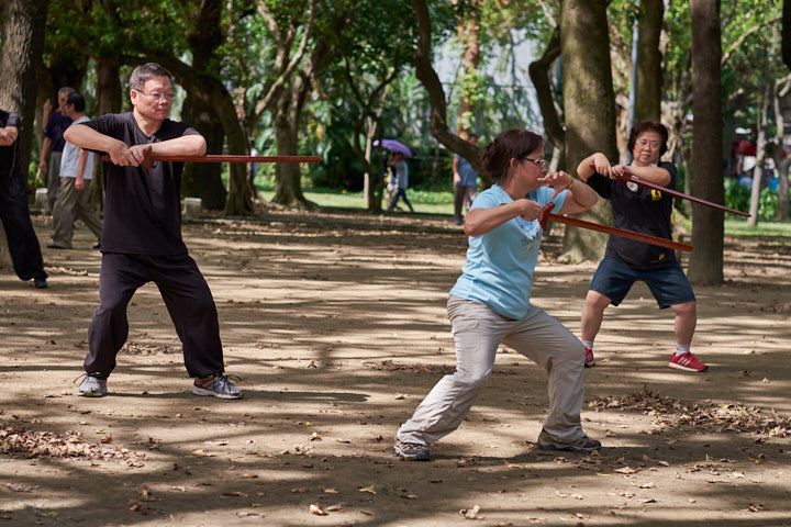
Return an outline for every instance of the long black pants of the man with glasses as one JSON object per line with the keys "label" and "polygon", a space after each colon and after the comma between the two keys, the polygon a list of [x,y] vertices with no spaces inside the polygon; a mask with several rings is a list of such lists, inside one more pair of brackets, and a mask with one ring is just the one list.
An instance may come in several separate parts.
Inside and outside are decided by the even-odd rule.
{"label": "long black pants of the man with glasses", "polygon": [[216,306],[209,284],[192,258],[105,253],[99,273],[99,307],[88,329],[85,370],[107,378],[129,336],[126,306],[146,282],[159,288],[190,377],[223,371]]}

